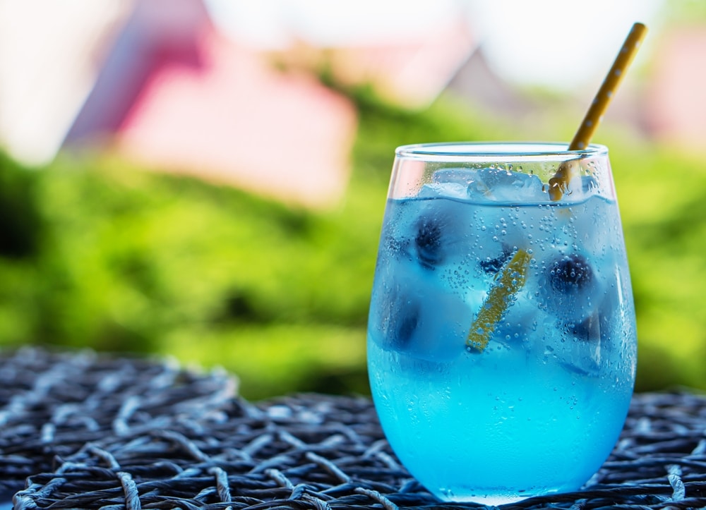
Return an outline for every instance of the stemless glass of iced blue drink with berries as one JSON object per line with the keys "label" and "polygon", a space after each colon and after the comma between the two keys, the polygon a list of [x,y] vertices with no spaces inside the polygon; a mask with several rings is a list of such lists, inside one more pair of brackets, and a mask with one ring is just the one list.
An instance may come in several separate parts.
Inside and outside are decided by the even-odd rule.
{"label": "stemless glass of iced blue drink with berries", "polygon": [[399,147],[367,348],[390,446],[437,497],[503,504],[580,488],[614,447],[635,382],[607,148]]}

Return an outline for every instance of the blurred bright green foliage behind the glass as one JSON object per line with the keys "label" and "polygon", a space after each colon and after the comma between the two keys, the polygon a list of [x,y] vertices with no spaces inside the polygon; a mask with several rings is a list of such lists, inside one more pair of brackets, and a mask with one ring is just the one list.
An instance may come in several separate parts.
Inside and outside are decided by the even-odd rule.
{"label": "blurred bright green foliage behind the glass", "polygon": [[[395,147],[568,137],[448,97],[414,112],[353,96],[353,171],[333,210],[109,157],[62,156],[40,169],[0,157],[0,344],[222,365],[249,399],[366,393],[367,308]],[[638,389],[706,389],[706,164],[623,132],[607,138],[597,141],[611,146],[626,231]]]}

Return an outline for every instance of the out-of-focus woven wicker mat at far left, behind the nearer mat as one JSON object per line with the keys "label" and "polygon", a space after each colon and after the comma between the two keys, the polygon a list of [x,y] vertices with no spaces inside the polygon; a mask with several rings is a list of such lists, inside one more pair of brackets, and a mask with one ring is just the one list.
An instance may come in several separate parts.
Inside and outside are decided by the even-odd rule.
{"label": "out-of-focus woven wicker mat at far left, behind the nearer mat", "polygon": [[0,351],[0,499],[86,442],[202,418],[235,393],[225,372],[184,370],[163,359]]}

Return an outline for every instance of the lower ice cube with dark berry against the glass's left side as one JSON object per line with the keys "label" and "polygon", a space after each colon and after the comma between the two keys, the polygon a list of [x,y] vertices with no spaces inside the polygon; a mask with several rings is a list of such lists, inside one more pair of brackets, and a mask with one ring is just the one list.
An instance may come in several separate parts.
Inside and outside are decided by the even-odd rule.
{"label": "lower ice cube with dark berry against the glass's left side", "polygon": [[383,348],[448,361],[465,351],[470,319],[462,298],[429,275],[397,270],[376,281],[370,328]]}

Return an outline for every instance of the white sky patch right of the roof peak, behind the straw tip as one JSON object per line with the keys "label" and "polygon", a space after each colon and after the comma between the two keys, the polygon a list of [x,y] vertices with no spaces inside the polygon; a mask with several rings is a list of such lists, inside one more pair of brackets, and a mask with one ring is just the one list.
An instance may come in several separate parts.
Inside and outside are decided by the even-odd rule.
{"label": "white sky patch right of the roof peak, behind the straw tip", "polygon": [[[654,32],[661,0],[477,0],[474,26],[486,56],[514,81],[599,85],[636,21]],[[650,51],[650,32],[635,65]]]}

